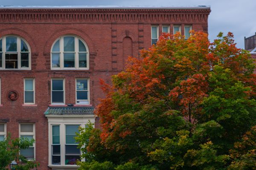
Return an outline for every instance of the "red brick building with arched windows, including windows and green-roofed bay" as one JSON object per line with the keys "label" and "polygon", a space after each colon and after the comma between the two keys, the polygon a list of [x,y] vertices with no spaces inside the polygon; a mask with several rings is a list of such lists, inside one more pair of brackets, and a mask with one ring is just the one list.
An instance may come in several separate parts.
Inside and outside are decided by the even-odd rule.
{"label": "red brick building with arched windows, including windows and green-roofed bay", "polygon": [[[78,126],[99,123],[99,79],[162,32],[208,29],[209,6],[0,7],[0,140],[34,138],[20,152],[40,170],[77,169]],[[96,119],[96,121],[95,121]]]}

